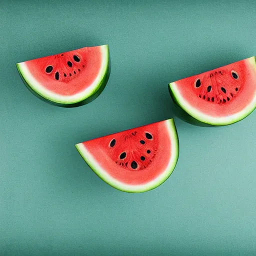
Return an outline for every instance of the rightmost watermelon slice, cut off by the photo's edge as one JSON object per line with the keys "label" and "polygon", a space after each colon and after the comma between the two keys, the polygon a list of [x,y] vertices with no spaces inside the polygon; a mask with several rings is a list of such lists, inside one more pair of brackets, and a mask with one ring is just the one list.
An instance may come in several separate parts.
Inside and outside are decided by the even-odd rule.
{"label": "rightmost watermelon slice, cut off by the photo's edge", "polygon": [[174,102],[195,119],[226,125],[256,107],[255,57],[169,83]]}

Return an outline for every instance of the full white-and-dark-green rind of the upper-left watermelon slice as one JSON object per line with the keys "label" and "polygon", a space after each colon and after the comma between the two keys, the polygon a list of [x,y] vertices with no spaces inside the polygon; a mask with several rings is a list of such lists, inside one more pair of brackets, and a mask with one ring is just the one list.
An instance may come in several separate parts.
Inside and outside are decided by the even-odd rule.
{"label": "full white-and-dark-green rind of the upper-left watermelon slice", "polygon": [[[31,82],[31,79],[33,79],[33,77],[29,76],[29,74],[25,74],[26,68],[23,65],[24,62],[16,63],[16,67],[18,69],[19,75],[23,80],[24,84],[34,95],[36,95],[43,101],[46,101],[53,105],[58,105],[63,107],[76,107],[76,106],[87,104],[92,100],[94,100],[103,91],[103,89],[106,86],[106,83],[110,75],[110,70],[111,70],[109,47],[107,44],[101,45],[100,47],[104,54],[104,57],[102,59],[101,71],[98,74],[99,81],[87,93],[79,92],[78,94],[80,96],[72,100],[68,100],[68,96],[60,96],[58,94],[50,92],[49,90],[47,91],[49,91],[52,94],[58,95],[57,98],[54,96],[50,97],[49,95],[46,95],[43,91],[41,91],[39,88],[34,86],[33,82]],[[61,97],[62,97],[62,100],[60,99]]]}

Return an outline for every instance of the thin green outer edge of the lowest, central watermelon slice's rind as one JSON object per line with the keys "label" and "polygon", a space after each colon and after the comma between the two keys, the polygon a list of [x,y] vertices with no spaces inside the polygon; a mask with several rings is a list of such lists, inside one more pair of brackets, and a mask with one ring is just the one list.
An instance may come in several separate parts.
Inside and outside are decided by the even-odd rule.
{"label": "thin green outer edge of the lowest, central watermelon slice's rind", "polygon": [[174,123],[173,119],[168,119],[166,121],[169,121],[170,127],[169,127],[169,131],[173,131],[173,136],[172,136],[172,143],[175,143],[175,157],[173,158],[173,164],[171,164],[170,169],[167,171],[167,174],[158,182],[153,183],[150,187],[147,187],[145,189],[136,189],[136,190],[132,190],[132,189],[123,189],[122,186],[117,186],[115,184],[113,184],[113,182],[111,182],[111,180],[106,180],[105,178],[103,178],[103,176],[101,175],[101,172],[98,171],[94,166],[93,166],[93,162],[90,162],[86,155],[84,155],[79,147],[78,144],[75,144],[75,147],[77,149],[77,151],[79,152],[79,154],[81,155],[81,157],[84,159],[84,161],[87,163],[87,165],[97,174],[97,176],[99,176],[102,180],[104,180],[107,184],[109,184],[110,186],[123,191],[123,192],[129,192],[129,193],[141,193],[141,192],[146,192],[149,190],[152,190],[154,188],[156,188],[157,186],[161,185],[164,181],[166,181],[168,179],[168,177],[171,175],[171,173],[173,172],[173,170],[176,167],[177,161],[178,161],[178,155],[179,155],[179,140],[178,140],[178,134],[177,134],[177,129],[176,129],[176,125]]}

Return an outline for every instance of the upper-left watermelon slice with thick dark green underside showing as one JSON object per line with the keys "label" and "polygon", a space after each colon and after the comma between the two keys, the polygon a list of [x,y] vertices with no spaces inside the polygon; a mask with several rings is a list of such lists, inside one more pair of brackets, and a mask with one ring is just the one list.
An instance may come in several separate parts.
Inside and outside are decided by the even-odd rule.
{"label": "upper-left watermelon slice with thick dark green underside showing", "polygon": [[108,45],[84,47],[16,64],[22,80],[47,102],[73,107],[96,98],[110,73]]}

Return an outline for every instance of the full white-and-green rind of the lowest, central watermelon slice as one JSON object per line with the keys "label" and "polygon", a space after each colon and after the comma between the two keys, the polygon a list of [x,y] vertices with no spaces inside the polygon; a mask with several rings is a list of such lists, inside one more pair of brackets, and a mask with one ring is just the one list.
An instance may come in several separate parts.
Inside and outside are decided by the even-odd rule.
{"label": "full white-and-green rind of the lowest, central watermelon slice", "polygon": [[140,192],[145,192],[151,189],[156,188],[160,184],[162,184],[173,172],[177,160],[178,160],[178,154],[179,154],[179,142],[178,142],[178,135],[177,135],[177,130],[176,126],[174,123],[173,119],[167,119],[165,120],[166,125],[168,125],[168,131],[170,135],[170,140],[171,140],[171,156],[169,160],[169,164],[167,168],[162,172],[163,174],[160,174],[156,178],[157,180],[150,181],[146,184],[141,184],[141,185],[128,185],[124,184],[122,182],[119,182],[115,178],[111,177],[110,175],[107,174],[107,171],[101,171],[100,166],[96,166],[97,162],[93,159],[93,156],[84,148],[82,143],[75,144],[76,149],[78,150],[79,154],[82,156],[84,161],[88,164],[88,166],[102,179],[104,180],[107,184],[110,186],[121,190],[123,192],[130,192],[130,193],[140,193]]}

